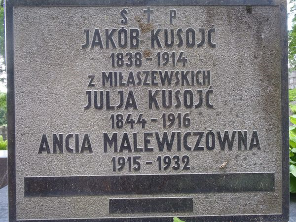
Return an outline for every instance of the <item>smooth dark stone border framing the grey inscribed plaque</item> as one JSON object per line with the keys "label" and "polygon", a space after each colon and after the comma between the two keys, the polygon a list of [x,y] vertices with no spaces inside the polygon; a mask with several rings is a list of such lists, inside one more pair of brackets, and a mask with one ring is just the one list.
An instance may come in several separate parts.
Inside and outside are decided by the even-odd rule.
{"label": "smooth dark stone border framing the grey inscribed plaque", "polygon": [[[14,6],[123,6],[123,5],[254,5],[279,6],[281,26],[281,80],[282,80],[282,214],[181,217],[189,221],[289,221],[289,120],[288,120],[288,34],[287,3],[277,4],[275,0],[6,0],[6,73],[7,73],[7,122],[8,122],[8,205],[9,221],[16,221],[16,174],[15,174],[15,100],[14,100]],[[171,222],[172,218],[132,218],[132,219],[55,219],[31,220],[48,222]],[[28,222],[28,220],[27,220]]]}

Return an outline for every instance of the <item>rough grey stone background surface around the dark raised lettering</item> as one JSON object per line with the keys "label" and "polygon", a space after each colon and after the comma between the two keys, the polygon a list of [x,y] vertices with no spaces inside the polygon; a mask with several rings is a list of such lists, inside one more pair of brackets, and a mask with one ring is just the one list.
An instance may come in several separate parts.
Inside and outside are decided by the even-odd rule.
{"label": "rough grey stone background surface around the dark raised lettering", "polygon": [[[209,29],[214,25],[216,28],[214,41],[217,48],[204,45],[198,49],[189,49],[184,46],[172,50],[151,49],[151,53],[155,55],[157,51],[174,50],[176,53],[185,51],[188,57],[186,70],[211,70],[214,87],[211,102],[215,108],[186,110],[182,107],[179,110],[170,109],[166,112],[190,112],[191,126],[188,129],[181,129],[182,133],[210,129],[249,132],[258,130],[261,144],[261,150],[253,151],[238,151],[236,148],[232,151],[215,149],[213,152],[190,152],[192,159],[190,173],[219,173],[222,171],[220,165],[227,160],[229,163],[225,172],[268,171],[275,172],[276,175],[276,190],[271,193],[193,195],[194,213],[214,215],[281,213],[281,204],[274,204],[280,203],[282,199],[279,9],[254,6],[252,14],[248,14],[244,6],[175,8],[180,13],[179,21],[174,28],[182,27],[185,30],[192,27],[198,30],[199,27]],[[108,216],[109,196],[91,196],[87,199],[85,197],[24,198],[23,193],[25,176],[114,174],[110,162],[114,153],[102,151],[102,133],[115,131],[111,129],[110,121],[106,121],[111,111],[100,112],[94,109],[84,111],[83,107],[86,105],[85,91],[88,90],[87,75],[99,76],[102,71],[118,71],[111,68],[111,63],[106,60],[111,52],[121,49],[82,50],[81,44],[84,43],[82,33],[85,28],[92,31],[94,28],[101,30],[120,28],[120,10],[121,7],[17,7],[14,10],[17,219]],[[153,28],[171,28],[169,19],[163,19],[163,15],[169,18],[168,8],[157,7],[154,10]],[[128,11],[131,19],[126,28],[138,28],[138,22],[132,18],[138,16],[144,20],[143,7],[129,7]],[[141,33],[141,36],[143,43],[135,51],[150,49],[149,35]],[[172,67],[156,69],[155,60],[145,63],[141,68],[141,70],[171,69]],[[137,70],[139,69],[133,68],[134,72]],[[184,70],[184,68],[179,64],[174,70]],[[124,68],[122,71],[126,75],[129,69]],[[111,94],[115,95],[118,89],[133,89],[138,98],[139,112],[144,112],[146,118],[160,118],[160,111],[147,109],[148,88],[144,88],[103,89],[110,89]],[[187,88],[196,89],[196,86],[151,87],[153,90],[162,88],[183,91]],[[201,88],[207,89],[207,87]],[[97,84],[94,89],[101,89],[101,85]],[[115,98],[111,100],[112,104],[116,102]],[[131,110],[116,112],[126,116]],[[133,115],[136,114],[138,111],[133,111]],[[272,123],[270,119],[273,120]],[[174,126],[171,131],[177,129]],[[144,131],[137,126],[134,130],[125,128],[118,132],[122,134],[125,130],[129,133],[139,131],[139,134]],[[145,131],[161,133],[167,130],[162,129],[161,122],[158,122],[148,125]],[[44,133],[50,138],[53,133],[86,132],[90,134],[94,146],[93,154],[37,154],[40,138]],[[139,143],[143,144],[143,137],[139,139]],[[151,146],[156,147],[155,141]],[[189,152],[183,150],[180,154],[189,154]],[[163,153],[143,153],[142,158],[143,161],[151,160],[156,159],[157,155]],[[146,168],[140,173],[159,172],[155,168]],[[167,173],[175,172],[168,170]],[[238,206],[238,202],[245,203],[248,208],[244,205]],[[83,208],[86,205],[91,207]],[[221,208],[222,205],[225,207]],[[82,208],[83,211],[73,211]],[[98,208],[102,210],[96,211]]]}

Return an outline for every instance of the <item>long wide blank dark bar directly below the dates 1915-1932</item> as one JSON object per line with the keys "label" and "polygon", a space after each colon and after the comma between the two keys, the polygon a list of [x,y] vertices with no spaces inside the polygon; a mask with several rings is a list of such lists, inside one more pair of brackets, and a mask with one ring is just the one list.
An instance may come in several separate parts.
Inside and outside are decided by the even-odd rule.
{"label": "long wide blank dark bar directly below the dates 1915-1932", "polygon": [[267,191],[274,173],[25,177],[25,197]]}

